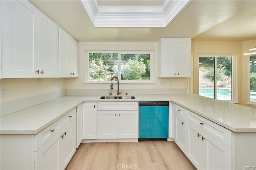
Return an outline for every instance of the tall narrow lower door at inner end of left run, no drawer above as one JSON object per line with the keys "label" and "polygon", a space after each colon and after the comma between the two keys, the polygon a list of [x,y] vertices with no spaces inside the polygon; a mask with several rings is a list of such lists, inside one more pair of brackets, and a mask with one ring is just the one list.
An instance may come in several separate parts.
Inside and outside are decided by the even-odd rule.
{"label": "tall narrow lower door at inner end of left run, no drawer above", "polygon": [[76,107],[76,148],[83,140],[83,104]]}

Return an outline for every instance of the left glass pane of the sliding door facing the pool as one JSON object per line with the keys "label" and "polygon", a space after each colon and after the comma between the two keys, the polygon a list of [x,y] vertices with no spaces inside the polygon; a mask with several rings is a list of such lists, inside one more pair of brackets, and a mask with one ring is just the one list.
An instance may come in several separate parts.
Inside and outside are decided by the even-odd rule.
{"label": "left glass pane of the sliding door facing the pool", "polygon": [[199,57],[199,95],[214,98],[214,57]]}

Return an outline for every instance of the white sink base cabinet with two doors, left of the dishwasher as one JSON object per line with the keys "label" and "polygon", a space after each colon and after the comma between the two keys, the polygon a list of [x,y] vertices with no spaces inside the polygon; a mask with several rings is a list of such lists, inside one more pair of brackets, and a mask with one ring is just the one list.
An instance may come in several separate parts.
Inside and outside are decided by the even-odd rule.
{"label": "white sink base cabinet with two doors, left of the dishwasher", "polygon": [[138,102],[99,103],[97,138],[138,138],[138,120]]}

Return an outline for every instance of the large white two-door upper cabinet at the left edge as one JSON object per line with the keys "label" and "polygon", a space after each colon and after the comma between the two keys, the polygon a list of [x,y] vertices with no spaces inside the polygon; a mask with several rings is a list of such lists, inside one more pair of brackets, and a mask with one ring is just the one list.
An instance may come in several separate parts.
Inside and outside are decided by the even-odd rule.
{"label": "large white two-door upper cabinet at the left edge", "polygon": [[2,78],[58,77],[58,27],[28,1],[1,1]]}

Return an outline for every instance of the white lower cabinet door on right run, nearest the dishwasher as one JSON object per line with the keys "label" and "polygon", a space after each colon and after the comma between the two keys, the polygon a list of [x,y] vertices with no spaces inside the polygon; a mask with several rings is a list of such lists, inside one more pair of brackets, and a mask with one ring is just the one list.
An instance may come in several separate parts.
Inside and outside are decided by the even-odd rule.
{"label": "white lower cabinet door on right run, nearest the dishwasher", "polygon": [[175,125],[176,125],[175,143],[185,153],[186,152],[185,118],[175,113]]}

